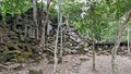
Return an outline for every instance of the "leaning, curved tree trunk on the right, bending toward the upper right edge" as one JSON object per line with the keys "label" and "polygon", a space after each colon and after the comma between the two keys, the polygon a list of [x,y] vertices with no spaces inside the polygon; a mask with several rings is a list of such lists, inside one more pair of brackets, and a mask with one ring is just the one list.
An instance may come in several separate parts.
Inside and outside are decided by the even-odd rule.
{"label": "leaning, curved tree trunk on the right, bending toward the upper right edge", "polygon": [[131,18],[131,10],[129,11],[128,16],[126,17],[126,21],[123,22],[121,28],[118,30],[118,35],[117,35],[117,41],[115,44],[115,47],[111,49],[111,53],[112,53],[112,58],[111,58],[111,64],[112,64],[112,74],[118,74],[117,72],[117,64],[116,64],[116,55],[117,55],[117,49],[119,48],[120,41],[122,39],[122,35],[123,32],[126,30],[127,27],[127,23],[130,21]]}

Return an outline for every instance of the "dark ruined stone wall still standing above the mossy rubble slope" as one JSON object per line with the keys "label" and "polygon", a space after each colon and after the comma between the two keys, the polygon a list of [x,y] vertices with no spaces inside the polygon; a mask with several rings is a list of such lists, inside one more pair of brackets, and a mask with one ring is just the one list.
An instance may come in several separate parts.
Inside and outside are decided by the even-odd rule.
{"label": "dark ruined stone wall still standing above the mossy rubble slope", "polygon": [[[40,17],[41,13],[40,10],[37,12],[38,17],[38,26],[41,27]],[[28,9],[27,11],[21,14],[7,14],[5,17],[7,26],[15,32],[22,33],[25,37],[35,35],[35,25],[33,23],[33,9]],[[41,29],[39,28],[39,32]]]}

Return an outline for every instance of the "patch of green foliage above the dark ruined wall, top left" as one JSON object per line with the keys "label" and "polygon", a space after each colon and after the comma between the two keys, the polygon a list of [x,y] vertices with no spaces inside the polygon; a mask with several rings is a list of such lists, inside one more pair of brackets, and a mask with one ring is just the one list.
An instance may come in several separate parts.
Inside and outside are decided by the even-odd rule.
{"label": "patch of green foliage above the dark ruined wall, top left", "polygon": [[7,13],[20,14],[32,7],[32,0],[3,0],[1,3],[1,12],[4,16]]}

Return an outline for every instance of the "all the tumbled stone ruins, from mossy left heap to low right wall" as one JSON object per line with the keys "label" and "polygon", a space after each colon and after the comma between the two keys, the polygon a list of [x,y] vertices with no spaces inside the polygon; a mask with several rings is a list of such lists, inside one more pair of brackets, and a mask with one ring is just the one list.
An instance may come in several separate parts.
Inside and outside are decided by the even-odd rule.
{"label": "all the tumbled stone ruins, from mossy left heap to low right wall", "polygon": [[[27,10],[22,14],[11,14],[7,15],[7,27],[1,25],[0,22],[0,62],[1,61],[23,61],[28,58],[36,57],[39,52],[37,52],[37,47],[39,40],[35,39],[34,36],[34,25],[33,25],[33,9]],[[39,30],[43,27],[40,23],[40,13],[38,14],[38,24]],[[45,20],[45,18],[43,18]],[[55,20],[53,20],[55,21]],[[52,22],[53,24],[55,22]],[[57,29],[57,27],[53,27]],[[55,50],[55,41],[56,41],[56,30],[52,29],[53,34],[46,35],[46,46],[45,53],[53,57]],[[63,23],[61,26],[62,32],[60,30],[58,37],[58,54],[61,49],[61,38],[62,38],[62,50],[63,54],[74,54],[74,53],[90,53],[92,54],[92,38],[83,38],[79,33],[74,29],[74,27],[67,25]],[[60,34],[62,33],[62,37]],[[111,48],[98,47],[95,48],[98,54],[110,54]],[[127,49],[120,48],[118,54],[126,54]],[[4,59],[4,60],[3,60]]]}

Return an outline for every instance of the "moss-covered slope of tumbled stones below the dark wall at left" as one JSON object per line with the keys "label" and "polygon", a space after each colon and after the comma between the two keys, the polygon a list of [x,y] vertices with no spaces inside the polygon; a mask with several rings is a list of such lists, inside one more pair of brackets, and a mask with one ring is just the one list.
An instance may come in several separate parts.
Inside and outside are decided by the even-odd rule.
{"label": "moss-covered slope of tumbled stones below the dark wall at left", "polygon": [[29,59],[39,60],[36,50],[37,39],[24,37],[21,30],[12,30],[0,25],[0,62],[25,62]]}

